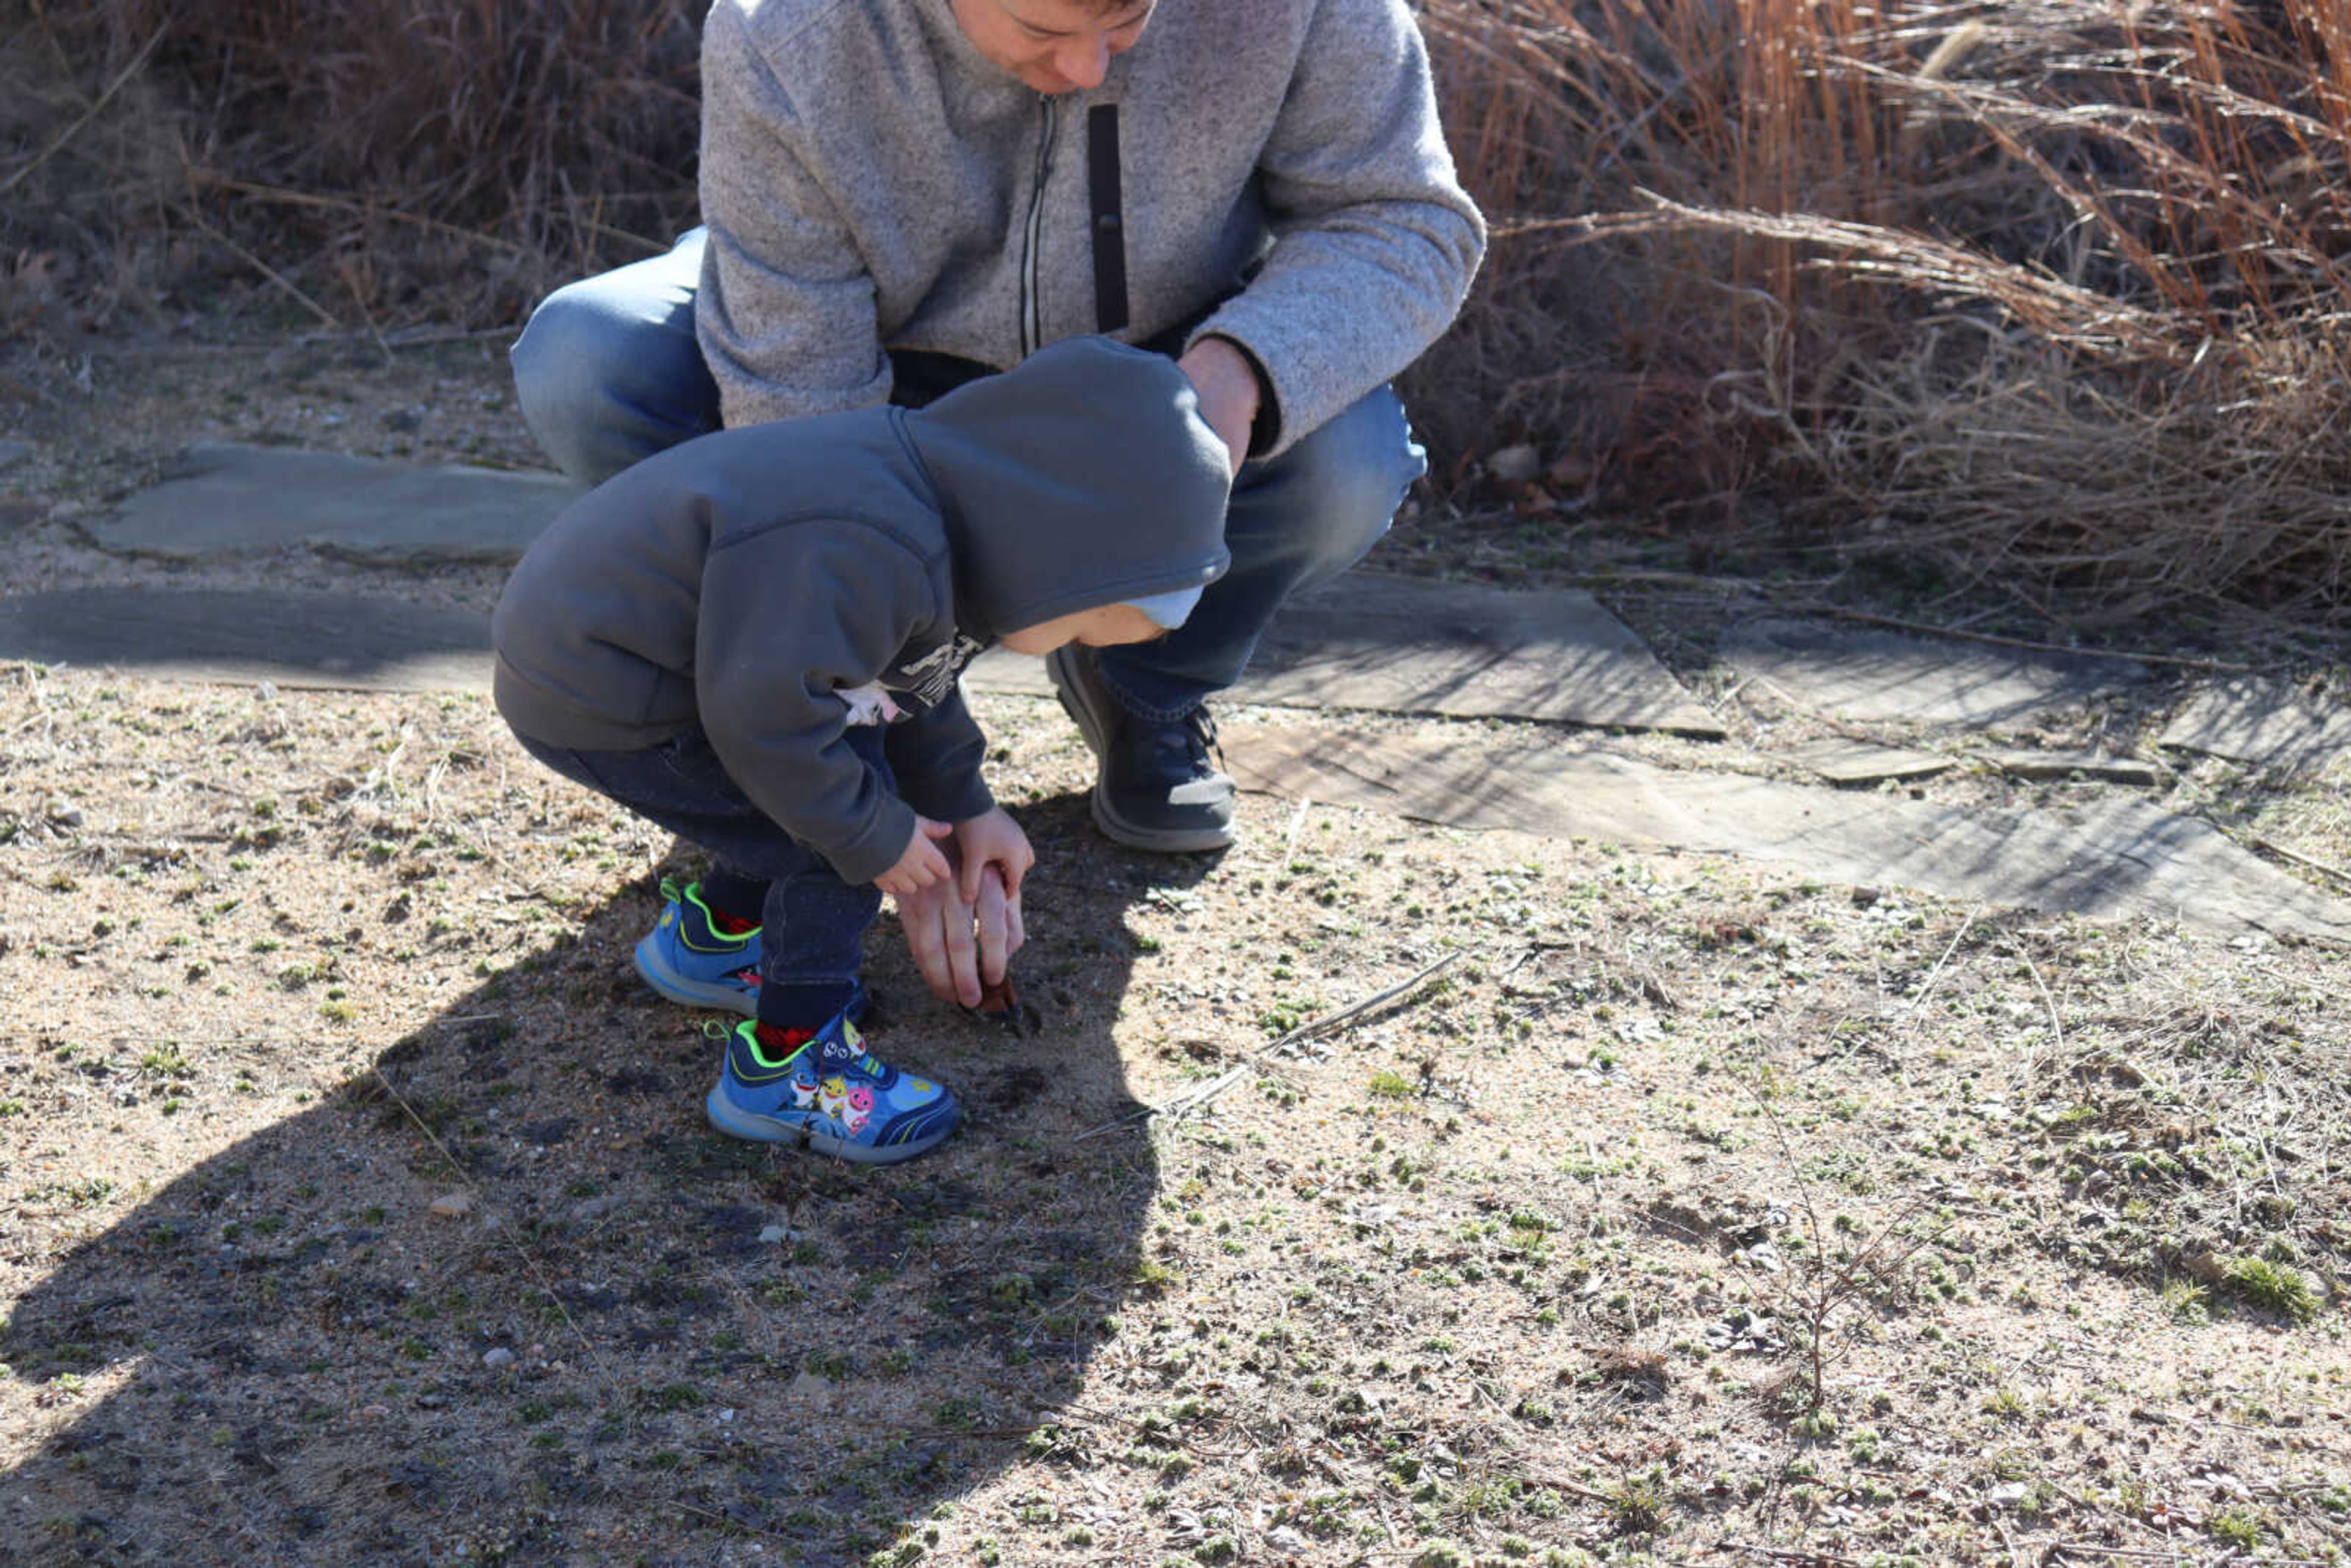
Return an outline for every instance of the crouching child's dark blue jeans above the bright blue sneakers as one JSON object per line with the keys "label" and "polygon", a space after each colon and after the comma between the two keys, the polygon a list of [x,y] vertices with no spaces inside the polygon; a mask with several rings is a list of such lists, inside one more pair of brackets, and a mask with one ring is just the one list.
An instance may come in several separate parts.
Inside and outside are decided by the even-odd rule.
{"label": "crouching child's dark blue jeans above the bright blue sneakers", "polygon": [[[844,731],[849,748],[893,788],[882,726]],[[788,835],[726,776],[701,726],[635,752],[576,752],[515,736],[522,750],[564,778],[621,802],[656,827],[701,844],[719,870],[766,882],[762,910],[759,1018],[802,1023],[811,1001],[830,1013],[863,1001],[858,969],[882,891],[851,884]]]}

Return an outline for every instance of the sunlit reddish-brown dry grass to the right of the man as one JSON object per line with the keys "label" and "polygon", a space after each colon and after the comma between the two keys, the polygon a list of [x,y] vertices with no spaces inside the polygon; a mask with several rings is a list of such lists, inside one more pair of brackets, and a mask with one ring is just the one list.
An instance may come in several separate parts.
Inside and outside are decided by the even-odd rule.
{"label": "sunlit reddish-brown dry grass to the right of the man", "polygon": [[2342,614],[2339,5],[1434,0],[1429,31],[1502,235],[1422,367],[1441,435],[1498,411],[1559,444],[1554,491],[1761,491],[2076,621]]}

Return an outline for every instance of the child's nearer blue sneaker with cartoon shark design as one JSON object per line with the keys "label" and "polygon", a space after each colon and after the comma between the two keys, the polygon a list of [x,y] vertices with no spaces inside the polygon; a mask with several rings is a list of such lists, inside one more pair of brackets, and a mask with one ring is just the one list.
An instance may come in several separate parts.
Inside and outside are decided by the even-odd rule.
{"label": "child's nearer blue sneaker with cartoon shark design", "polygon": [[738,1023],[705,1110],[710,1126],[729,1138],[792,1143],[875,1166],[938,1147],[964,1119],[943,1086],[865,1051],[846,1013],[813,1034]]}

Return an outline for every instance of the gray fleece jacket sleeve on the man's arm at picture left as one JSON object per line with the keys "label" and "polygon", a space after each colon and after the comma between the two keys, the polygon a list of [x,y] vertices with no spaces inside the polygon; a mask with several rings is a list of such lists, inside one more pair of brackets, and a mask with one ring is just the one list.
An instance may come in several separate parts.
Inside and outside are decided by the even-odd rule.
{"label": "gray fleece jacket sleeve on the man's arm at picture left", "polygon": [[886,402],[872,275],[734,5],[703,28],[701,202],[694,329],[726,428]]}

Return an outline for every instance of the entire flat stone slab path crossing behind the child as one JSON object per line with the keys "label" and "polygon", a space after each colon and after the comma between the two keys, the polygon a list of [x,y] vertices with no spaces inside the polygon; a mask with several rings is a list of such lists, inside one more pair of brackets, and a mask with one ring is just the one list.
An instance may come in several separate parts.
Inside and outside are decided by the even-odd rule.
{"label": "entire flat stone slab path crossing behind the child", "polygon": [[[214,447],[89,531],[101,548],[169,559],[235,562],[299,543],[360,562],[503,562],[571,494],[552,475]],[[82,588],[0,599],[0,658],[169,679],[487,691],[487,616],[383,595]],[[1754,778],[1733,764],[1761,759],[1723,741],[1723,719],[1592,595],[1349,574],[1284,609],[1237,703],[1502,724],[1234,724],[1225,750],[1244,788],[1291,799],[1744,856],[1857,886],[2351,940],[2351,903],[2132,795],[2158,778],[2149,762],[2003,750],[2005,733],[2048,712],[2144,698],[2156,691],[2146,665],[1789,618],[1730,628],[1721,665],[1799,712],[1890,733],[1780,757],[1824,783]],[[966,679],[1049,696],[1039,661],[1002,651]],[[1662,769],[1594,741],[1601,729],[1719,741],[1723,766]],[[2351,715],[2290,686],[2208,684],[2158,745],[2318,769],[2351,748]],[[1928,778],[1961,757],[2099,778],[2106,792],[2071,811],[2015,811],[1836,788]]]}

